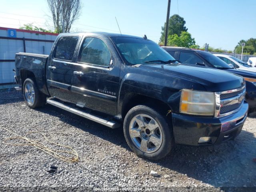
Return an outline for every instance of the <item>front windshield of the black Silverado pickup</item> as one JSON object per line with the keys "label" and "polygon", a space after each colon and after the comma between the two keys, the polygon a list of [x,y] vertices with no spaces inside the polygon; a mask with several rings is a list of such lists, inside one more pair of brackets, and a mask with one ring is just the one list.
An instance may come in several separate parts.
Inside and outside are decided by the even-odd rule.
{"label": "front windshield of the black Silverado pickup", "polygon": [[[149,64],[158,62],[168,62],[175,60],[168,52],[155,42],[148,39],[130,37],[112,37],[119,52],[126,62],[135,64]],[[178,63],[178,62],[176,62]]]}

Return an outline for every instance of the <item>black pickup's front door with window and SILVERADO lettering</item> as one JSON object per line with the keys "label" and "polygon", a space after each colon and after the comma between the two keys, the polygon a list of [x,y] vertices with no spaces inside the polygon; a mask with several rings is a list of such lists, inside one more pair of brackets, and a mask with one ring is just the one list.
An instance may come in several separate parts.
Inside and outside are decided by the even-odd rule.
{"label": "black pickup's front door with window and SILVERADO lettering", "polygon": [[[108,43],[106,43],[108,42]],[[71,92],[77,106],[116,115],[120,64],[107,38],[87,36],[73,65]]]}

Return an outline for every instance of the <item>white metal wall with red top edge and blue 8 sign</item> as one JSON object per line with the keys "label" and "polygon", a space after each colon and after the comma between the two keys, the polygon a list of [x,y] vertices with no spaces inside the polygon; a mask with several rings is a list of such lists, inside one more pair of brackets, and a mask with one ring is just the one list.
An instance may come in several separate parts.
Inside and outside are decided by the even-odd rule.
{"label": "white metal wall with red top edge and blue 8 sign", "polygon": [[0,27],[0,84],[12,83],[15,54],[49,54],[58,34]]}

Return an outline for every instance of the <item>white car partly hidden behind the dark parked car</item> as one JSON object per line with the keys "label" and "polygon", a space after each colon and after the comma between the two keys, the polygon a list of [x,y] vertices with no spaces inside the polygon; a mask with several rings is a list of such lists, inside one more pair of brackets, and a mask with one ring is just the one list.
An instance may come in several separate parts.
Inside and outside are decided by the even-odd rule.
{"label": "white car partly hidden behind the dark parked car", "polygon": [[225,54],[214,54],[214,55],[220,58],[221,60],[223,60],[224,62],[226,62],[227,64],[232,64],[236,69],[256,72],[256,67],[252,67],[248,65],[242,60],[232,55],[225,55]]}

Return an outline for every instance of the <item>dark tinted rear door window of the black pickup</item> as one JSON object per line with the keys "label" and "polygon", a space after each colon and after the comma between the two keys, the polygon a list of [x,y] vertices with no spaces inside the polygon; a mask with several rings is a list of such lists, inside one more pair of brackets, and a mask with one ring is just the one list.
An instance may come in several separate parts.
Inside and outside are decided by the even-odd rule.
{"label": "dark tinted rear door window of the black pickup", "polygon": [[72,61],[78,37],[65,36],[58,41],[54,58]]}

